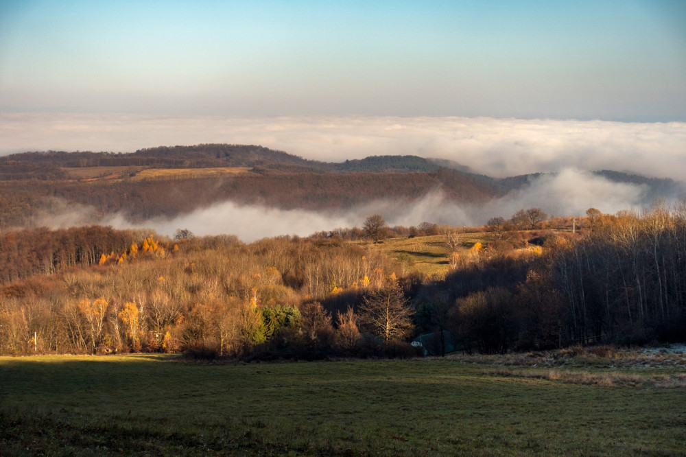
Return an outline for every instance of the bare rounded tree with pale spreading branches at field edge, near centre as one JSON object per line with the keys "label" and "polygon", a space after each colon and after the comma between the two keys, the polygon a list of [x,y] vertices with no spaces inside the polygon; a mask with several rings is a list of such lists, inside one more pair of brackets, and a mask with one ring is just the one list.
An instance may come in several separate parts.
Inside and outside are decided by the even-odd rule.
{"label": "bare rounded tree with pale spreading branches at field edge, near centre", "polygon": [[359,307],[359,319],[375,336],[388,342],[401,341],[414,330],[412,308],[397,281],[388,280],[379,289],[370,290]]}

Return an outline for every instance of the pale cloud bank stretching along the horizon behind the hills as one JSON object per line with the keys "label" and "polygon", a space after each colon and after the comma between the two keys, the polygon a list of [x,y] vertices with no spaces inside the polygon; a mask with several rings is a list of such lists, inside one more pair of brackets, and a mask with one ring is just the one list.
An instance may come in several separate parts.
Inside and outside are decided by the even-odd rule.
{"label": "pale cloud bank stretching along the horizon behind the hills", "polygon": [[158,145],[259,144],[323,161],[414,154],[504,177],[613,169],[686,176],[686,123],[465,117],[162,117],[0,114],[0,154],[132,152]]}

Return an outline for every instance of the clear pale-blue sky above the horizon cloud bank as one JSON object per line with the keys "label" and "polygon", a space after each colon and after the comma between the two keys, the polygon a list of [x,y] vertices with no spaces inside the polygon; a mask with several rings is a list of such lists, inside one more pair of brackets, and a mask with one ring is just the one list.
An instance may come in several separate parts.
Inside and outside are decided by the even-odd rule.
{"label": "clear pale-blue sky above the horizon cloud bank", "polygon": [[0,112],[686,120],[684,1],[0,2]]}

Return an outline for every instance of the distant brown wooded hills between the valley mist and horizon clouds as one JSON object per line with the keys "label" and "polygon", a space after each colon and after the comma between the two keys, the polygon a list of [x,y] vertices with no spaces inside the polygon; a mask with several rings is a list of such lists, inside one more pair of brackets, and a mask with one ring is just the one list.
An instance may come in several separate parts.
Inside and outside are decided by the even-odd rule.
{"label": "distant brown wooded hills between the valley mist and horizon clouds", "polygon": [[[683,183],[604,170],[642,185],[646,200],[683,193]],[[351,209],[376,200],[416,201],[440,191],[456,204],[484,204],[527,187],[528,174],[495,179],[454,161],[370,156],[327,163],[257,145],[161,146],[132,154],[27,152],[0,157],[0,230],[31,227],[41,214],[88,207],[97,222],[173,217],[227,200],[281,209]],[[552,176],[552,175],[551,175]]]}

